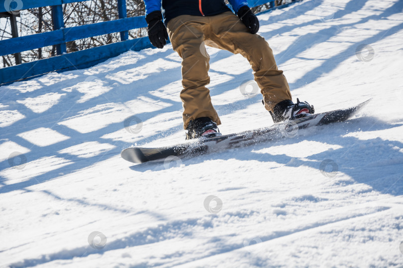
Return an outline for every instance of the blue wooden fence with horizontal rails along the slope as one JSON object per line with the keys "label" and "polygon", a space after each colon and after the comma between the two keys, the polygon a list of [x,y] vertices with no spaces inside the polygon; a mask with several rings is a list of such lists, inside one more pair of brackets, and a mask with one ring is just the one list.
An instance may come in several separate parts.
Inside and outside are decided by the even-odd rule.
{"label": "blue wooden fence with horizontal rails along the slope", "polygon": [[[144,16],[130,17],[126,15],[126,0],[117,0],[118,19],[65,28],[62,5],[85,0],[24,0],[22,9],[51,6],[53,31],[10,38],[0,41],[0,56],[15,54],[27,50],[56,45],[58,56],[24,63],[17,66],[0,68],[0,85],[21,79],[36,77],[51,71],[65,71],[87,68],[116,57],[129,50],[140,51],[152,48],[148,37],[128,40],[128,30],[147,27]],[[293,0],[296,1],[296,0]],[[274,1],[248,0],[249,6],[254,7],[270,3],[274,9]],[[281,5],[277,8],[283,8]],[[4,4],[0,5],[0,12],[7,12]],[[78,39],[99,36],[109,33],[120,33],[120,42],[103,45],[83,51],[66,53],[66,42]]]}

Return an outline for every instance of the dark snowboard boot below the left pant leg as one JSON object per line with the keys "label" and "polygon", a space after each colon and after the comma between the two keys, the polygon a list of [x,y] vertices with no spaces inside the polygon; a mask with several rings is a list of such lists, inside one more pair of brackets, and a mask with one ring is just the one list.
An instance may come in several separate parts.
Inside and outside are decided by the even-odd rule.
{"label": "dark snowboard boot below the left pant leg", "polygon": [[199,137],[214,137],[220,136],[217,124],[215,124],[208,117],[201,117],[189,122],[186,133],[186,139],[193,139]]}

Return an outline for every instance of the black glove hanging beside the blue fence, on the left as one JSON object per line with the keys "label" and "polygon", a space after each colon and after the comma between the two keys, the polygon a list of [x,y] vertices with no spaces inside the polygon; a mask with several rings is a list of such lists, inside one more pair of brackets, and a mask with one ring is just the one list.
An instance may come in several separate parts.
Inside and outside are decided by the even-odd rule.
{"label": "black glove hanging beside the blue fence, on the left", "polygon": [[148,38],[151,44],[157,48],[163,48],[167,44],[168,32],[162,20],[160,10],[155,10],[146,16],[148,24]]}

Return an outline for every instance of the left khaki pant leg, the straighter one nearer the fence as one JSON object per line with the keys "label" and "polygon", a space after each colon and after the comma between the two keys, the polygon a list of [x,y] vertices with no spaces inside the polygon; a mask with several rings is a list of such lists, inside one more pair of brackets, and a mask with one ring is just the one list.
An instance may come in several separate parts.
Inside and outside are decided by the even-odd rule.
{"label": "left khaki pant leg, the straighter one nearer the fence", "polygon": [[211,104],[210,91],[206,88],[210,82],[207,73],[209,59],[200,49],[204,44],[206,22],[205,17],[182,15],[170,20],[167,25],[172,47],[182,58],[181,99],[185,130],[189,121],[200,117],[208,117],[217,125],[221,124]]}

